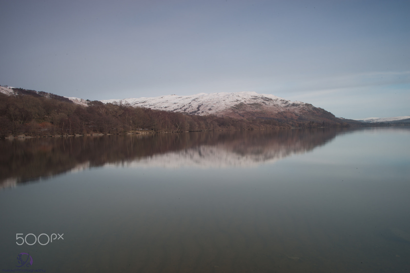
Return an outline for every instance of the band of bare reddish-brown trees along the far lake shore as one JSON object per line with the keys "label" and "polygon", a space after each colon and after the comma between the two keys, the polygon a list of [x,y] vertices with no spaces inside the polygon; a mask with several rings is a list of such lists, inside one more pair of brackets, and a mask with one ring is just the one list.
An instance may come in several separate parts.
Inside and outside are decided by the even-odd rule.
{"label": "band of bare reddish-brown trees along the far lake shore", "polygon": [[215,130],[290,129],[292,127],[349,127],[351,123],[237,119],[199,116],[132,107],[129,104],[87,100],[87,106],[46,92],[14,88],[14,95],[0,93],[0,138],[7,136],[67,136],[128,132],[198,132]]}

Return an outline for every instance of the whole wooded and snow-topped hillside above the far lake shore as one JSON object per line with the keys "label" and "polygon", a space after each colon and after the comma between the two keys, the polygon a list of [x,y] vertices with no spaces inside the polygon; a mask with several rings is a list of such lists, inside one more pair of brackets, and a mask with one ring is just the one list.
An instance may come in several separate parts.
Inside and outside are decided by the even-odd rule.
{"label": "whole wooded and snow-topped hillside above the far lake shore", "polygon": [[310,104],[254,92],[134,99],[131,106],[1,87],[0,138],[350,126]]}

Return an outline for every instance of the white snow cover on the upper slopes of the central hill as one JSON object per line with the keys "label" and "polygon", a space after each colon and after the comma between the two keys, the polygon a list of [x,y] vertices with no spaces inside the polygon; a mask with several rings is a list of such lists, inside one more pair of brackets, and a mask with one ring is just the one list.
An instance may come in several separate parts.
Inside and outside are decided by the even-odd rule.
{"label": "white snow cover on the upper slopes of the central hill", "polygon": [[134,107],[146,107],[157,110],[187,112],[189,114],[219,114],[235,105],[284,107],[291,104],[302,105],[304,102],[292,102],[271,94],[258,94],[253,91],[236,93],[199,93],[190,96],[165,95],[153,98],[127,98],[123,100],[101,100],[104,103],[129,103]]}

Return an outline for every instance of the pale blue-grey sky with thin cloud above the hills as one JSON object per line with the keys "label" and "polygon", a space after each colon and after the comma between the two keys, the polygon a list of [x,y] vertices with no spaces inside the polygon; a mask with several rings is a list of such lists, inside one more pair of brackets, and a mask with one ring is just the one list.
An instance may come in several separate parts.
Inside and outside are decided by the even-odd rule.
{"label": "pale blue-grey sky with thin cloud above the hills", "polygon": [[410,116],[410,1],[1,0],[0,84],[89,100],[255,91]]}

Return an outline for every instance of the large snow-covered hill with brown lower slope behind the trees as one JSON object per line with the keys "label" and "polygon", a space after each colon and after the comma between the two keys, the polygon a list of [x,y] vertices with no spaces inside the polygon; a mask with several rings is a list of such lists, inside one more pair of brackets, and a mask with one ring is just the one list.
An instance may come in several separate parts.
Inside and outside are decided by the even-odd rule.
{"label": "large snow-covered hill with brown lower slope behind the trees", "polygon": [[171,112],[196,115],[215,114],[233,118],[285,118],[308,121],[339,122],[332,113],[301,101],[290,101],[271,94],[256,92],[199,93],[191,96],[167,95],[154,98],[101,100],[104,103],[129,103]]}

